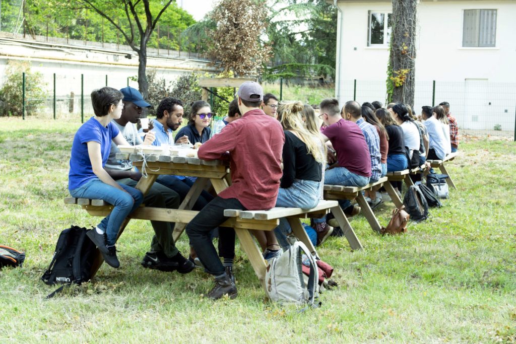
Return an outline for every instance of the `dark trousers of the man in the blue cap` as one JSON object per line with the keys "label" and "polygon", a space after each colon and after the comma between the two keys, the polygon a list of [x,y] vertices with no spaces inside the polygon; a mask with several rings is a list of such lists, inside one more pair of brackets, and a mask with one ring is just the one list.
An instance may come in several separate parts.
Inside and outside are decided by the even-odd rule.
{"label": "dark trousers of the man in the blue cap", "polygon": [[[137,184],[131,178],[119,179],[117,183],[131,187],[135,187]],[[143,197],[143,203],[148,207],[177,209],[180,205],[179,194],[164,185],[154,183],[149,192]],[[150,252],[163,252],[169,258],[178,254],[179,251],[176,249],[174,239],[172,238],[175,223],[151,220],[151,225],[154,230],[154,236],[152,237]]]}

